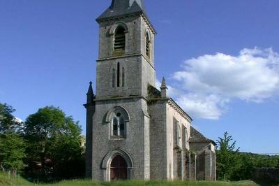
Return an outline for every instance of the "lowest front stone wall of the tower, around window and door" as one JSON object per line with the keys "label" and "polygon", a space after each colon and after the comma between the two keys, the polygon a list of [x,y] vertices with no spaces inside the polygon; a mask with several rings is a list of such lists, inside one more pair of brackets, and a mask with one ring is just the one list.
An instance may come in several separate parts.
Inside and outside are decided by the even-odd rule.
{"label": "lowest front stone wall of the tower, around window and door", "polygon": [[[131,179],[149,179],[149,120],[146,119],[146,101],[140,98],[112,99],[96,101],[96,113],[93,115],[93,152],[92,152],[92,178],[94,180],[107,180],[105,171],[100,169],[104,157],[111,150],[121,148],[131,157],[133,169]],[[130,115],[126,123],[126,138],[111,138],[111,124],[105,122],[108,110],[115,106],[125,108]],[[147,133],[147,134],[146,134]]]}

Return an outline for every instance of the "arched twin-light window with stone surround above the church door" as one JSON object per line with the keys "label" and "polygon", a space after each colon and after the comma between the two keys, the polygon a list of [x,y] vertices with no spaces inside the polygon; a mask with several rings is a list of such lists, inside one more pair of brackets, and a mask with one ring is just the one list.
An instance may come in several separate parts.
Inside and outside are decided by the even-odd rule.
{"label": "arched twin-light window with stone surround above the church door", "polygon": [[112,138],[126,138],[129,118],[127,111],[120,106],[112,108],[107,113],[106,122],[110,124],[110,136]]}

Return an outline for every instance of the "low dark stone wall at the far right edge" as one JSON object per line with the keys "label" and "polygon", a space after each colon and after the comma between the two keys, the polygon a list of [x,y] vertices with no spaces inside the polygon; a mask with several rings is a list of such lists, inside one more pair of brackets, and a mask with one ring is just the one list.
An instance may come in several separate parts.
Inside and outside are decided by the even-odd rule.
{"label": "low dark stone wall at the far right edge", "polygon": [[253,180],[270,180],[279,182],[278,168],[258,168],[252,173]]}

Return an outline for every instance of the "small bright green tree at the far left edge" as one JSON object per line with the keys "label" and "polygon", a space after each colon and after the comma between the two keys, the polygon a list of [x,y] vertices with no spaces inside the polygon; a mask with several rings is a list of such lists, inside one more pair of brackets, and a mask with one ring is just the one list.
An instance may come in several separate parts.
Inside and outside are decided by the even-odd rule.
{"label": "small bright green tree at the far left edge", "polygon": [[4,169],[13,171],[13,176],[17,176],[17,171],[24,168],[22,159],[26,157],[24,140],[13,132],[2,134],[0,138],[0,159]]}

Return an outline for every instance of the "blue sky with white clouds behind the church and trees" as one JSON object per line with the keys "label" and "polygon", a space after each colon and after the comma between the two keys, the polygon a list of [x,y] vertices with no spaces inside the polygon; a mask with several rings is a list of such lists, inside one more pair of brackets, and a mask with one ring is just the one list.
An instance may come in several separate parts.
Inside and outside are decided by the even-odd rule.
{"label": "blue sky with white clouds behind the church and trees", "polygon": [[[98,24],[110,0],[0,0],[0,102],[24,120],[59,106],[84,129]],[[157,78],[216,140],[279,153],[279,1],[152,0]]]}

